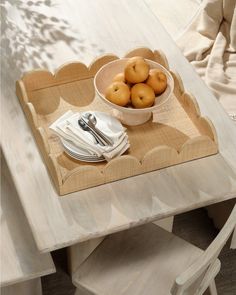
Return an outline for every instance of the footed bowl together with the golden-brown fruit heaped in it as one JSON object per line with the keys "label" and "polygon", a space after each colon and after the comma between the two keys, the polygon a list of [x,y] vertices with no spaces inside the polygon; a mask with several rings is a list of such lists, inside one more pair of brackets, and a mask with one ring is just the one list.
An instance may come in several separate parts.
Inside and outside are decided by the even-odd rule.
{"label": "footed bowl together with the golden-brown fruit heaped in it", "polygon": [[[147,64],[147,67],[145,67],[148,68],[148,71],[142,70],[143,72],[146,71],[146,74],[143,74],[142,79],[139,77],[139,80],[135,80],[143,81],[131,82],[134,80],[127,78],[127,71],[125,69],[133,65],[133,70],[137,71],[140,63],[143,64],[143,62]],[[137,66],[137,63],[139,66]],[[154,79],[155,87],[147,84],[147,81],[152,76],[153,69],[159,71],[160,78],[164,77],[164,81],[162,85],[159,85],[159,88],[156,86],[157,83],[160,83],[159,80],[162,80],[159,79],[159,76],[158,79]],[[118,95],[118,89],[116,91],[114,89],[114,82],[123,83],[123,88],[126,89],[125,95],[124,93],[122,96]],[[127,85],[129,91],[124,85]],[[114,116],[122,123],[134,126],[149,120],[152,112],[156,111],[169,99],[174,90],[174,80],[171,73],[165,67],[153,60],[144,59],[143,57],[121,58],[103,65],[98,70],[94,77],[94,87],[98,97],[112,108]]]}

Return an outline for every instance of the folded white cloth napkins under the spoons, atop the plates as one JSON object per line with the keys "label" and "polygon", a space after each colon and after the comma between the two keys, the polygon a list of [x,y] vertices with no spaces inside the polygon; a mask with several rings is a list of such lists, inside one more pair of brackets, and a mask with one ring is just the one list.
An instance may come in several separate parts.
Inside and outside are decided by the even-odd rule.
{"label": "folded white cloth napkins under the spoons, atop the plates", "polygon": [[125,128],[114,117],[101,113],[93,113],[97,119],[96,128],[102,131],[113,142],[112,146],[98,144],[94,136],[83,130],[78,120],[81,113],[68,111],[58,118],[49,128],[60,138],[69,141],[80,154],[96,157],[104,156],[109,161],[112,158],[122,155],[130,146]]}

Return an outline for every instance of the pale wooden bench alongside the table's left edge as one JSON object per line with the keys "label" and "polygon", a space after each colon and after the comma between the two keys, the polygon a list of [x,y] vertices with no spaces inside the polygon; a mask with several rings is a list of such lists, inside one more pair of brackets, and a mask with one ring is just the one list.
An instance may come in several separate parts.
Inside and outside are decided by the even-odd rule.
{"label": "pale wooden bench alongside the table's left edge", "polygon": [[[2,159],[1,163],[1,287],[4,287],[56,270],[51,255],[38,252],[5,160]],[[36,294],[32,291],[36,281],[4,288],[2,292],[13,294],[11,290],[19,290],[17,294]],[[31,293],[26,293],[27,288]]]}

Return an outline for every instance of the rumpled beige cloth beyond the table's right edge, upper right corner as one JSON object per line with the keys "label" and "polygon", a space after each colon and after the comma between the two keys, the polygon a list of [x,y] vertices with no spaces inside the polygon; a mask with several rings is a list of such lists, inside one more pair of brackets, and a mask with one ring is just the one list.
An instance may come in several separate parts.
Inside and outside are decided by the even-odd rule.
{"label": "rumpled beige cloth beyond the table's right edge, upper right corner", "polygon": [[177,44],[236,121],[236,0],[204,0]]}

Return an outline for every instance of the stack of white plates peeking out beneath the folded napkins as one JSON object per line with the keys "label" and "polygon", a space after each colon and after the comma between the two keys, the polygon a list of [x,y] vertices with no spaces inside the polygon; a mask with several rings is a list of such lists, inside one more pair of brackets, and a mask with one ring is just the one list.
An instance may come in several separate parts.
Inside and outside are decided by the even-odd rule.
{"label": "stack of white plates peeking out beneath the folded napkins", "polygon": [[83,162],[102,162],[105,161],[103,156],[89,154],[85,149],[75,146],[72,142],[61,138],[65,152],[72,158]]}

